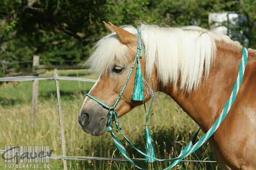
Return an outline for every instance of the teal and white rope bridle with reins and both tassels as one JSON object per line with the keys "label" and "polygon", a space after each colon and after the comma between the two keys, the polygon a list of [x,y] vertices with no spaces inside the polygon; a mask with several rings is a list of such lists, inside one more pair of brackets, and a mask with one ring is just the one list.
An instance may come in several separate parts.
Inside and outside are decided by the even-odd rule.
{"label": "teal and white rope bridle with reins and both tassels", "polygon": [[[140,32],[139,32],[139,29],[137,29],[137,36],[138,36],[138,39],[139,39],[139,44],[138,44],[138,48],[137,48],[137,54],[134,58],[134,61],[132,63],[132,67],[130,69],[130,72],[126,78],[126,81],[121,89],[121,92],[119,94],[119,96],[117,97],[117,100],[115,101],[114,105],[112,107],[109,107],[108,105],[106,105],[105,103],[101,102],[100,100],[96,99],[95,97],[91,96],[91,94],[86,94],[86,96],[88,96],[89,98],[95,100],[97,103],[99,103],[100,105],[102,105],[104,108],[108,109],[109,112],[108,112],[108,121],[107,121],[107,131],[110,132],[117,148],[119,149],[119,151],[122,153],[122,155],[124,155],[124,157],[126,157],[126,159],[128,159],[128,161],[130,161],[130,163],[134,164],[134,166],[136,166],[137,168],[141,169],[141,170],[146,170],[146,169],[143,169],[143,168],[140,168],[139,166],[137,166],[133,161],[132,159],[130,159],[130,157],[128,156],[124,146],[122,145],[121,141],[115,136],[115,134],[112,132],[112,129],[115,129],[113,128],[113,126],[111,126],[111,123],[112,123],[112,120],[114,119],[115,121],[115,126],[117,127],[117,129],[115,129],[115,131],[119,131],[122,136],[124,137],[124,139],[128,142],[128,144],[130,144],[137,152],[141,153],[142,155],[144,155],[146,157],[146,161],[147,162],[153,162],[153,161],[163,161],[163,162],[166,162],[166,161],[174,161],[169,167],[165,168],[164,170],[168,170],[170,168],[172,168],[173,166],[175,166],[176,164],[178,164],[182,159],[184,159],[184,157],[187,157],[188,155],[190,155],[191,153],[195,152],[200,146],[202,146],[202,144],[204,144],[204,142],[206,142],[206,140],[208,140],[212,135],[213,133],[215,133],[215,131],[217,130],[217,128],[220,126],[220,124],[223,122],[224,118],[226,117],[226,115],[228,114],[228,111],[230,110],[230,107],[232,106],[232,104],[234,103],[234,100],[236,99],[236,96],[237,96],[237,93],[238,93],[238,90],[239,90],[239,87],[241,85],[241,82],[242,82],[242,79],[243,79],[243,75],[244,75],[244,72],[245,72],[245,67],[246,67],[246,64],[247,64],[247,57],[248,57],[248,49],[247,48],[244,48],[243,47],[243,54],[242,54],[242,61],[241,61],[241,64],[240,64],[240,67],[239,67],[239,73],[238,73],[238,76],[237,76],[237,79],[236,79],[236,83],[234,85],[234,88],[232,90],[232,93],[230,95],[230,98],[228,99],[228,102],[226,103],[223,111],[221,112],[221,115],[218,117],[218,119],[216,120],[216,122],[213,124],[213,126],[204,134],[204,136],[198,140],[198,142],[195,142],[195,139],[196,139],[196,136],[199,132],[199,130],[197,131],[197,133],[194,135],[193,137],[193,140],[190,141],[187,146],[182,150],[182,152],[180,153],[180,155],[176,158],[172,158],[172,159],[157,159],[155,157],[155,153],[154,153],[154,146],[152,144],[152,139],[151,139],[151,135],[149,133],[149,129],[148,129],[148,118],[149,118],[149,114],[150,114],[150,110],[151,110],[151,107],[152,107],[152,103],[153,103],[153,100],[154,100],[154,82],[153,82],[153,78],[152,78],[152,75],[151,75],[151,79],[152,79],[152,86],[153,86],[153,95],[152,95],[152,101],[150,103],[150,107],[149,107],[149,110],[148,110],[148,113],[146,111],[146,107],[145,107],[145,104],[144,104],[144,107],[145,107],[145,111],[146,111],[146,136],[147,136],[147,154],[142,152],[141,150],[137,149],[133,144],[132,142],[130,142],[130,140],[128,140],[128,138],[124,135],[124,133],[122,133],[122,130],[121,130],[121,127],[119,126],[119,123],[118,123],[118,116],[117,116],[117,111],[115,111],[115,107],[117,106],[123,92],[124,92],[124,89],[126,88],[126,85],[130,79],[130,76],[132,74],[132,70],[134,69],[134,66],[135,66],[135,63],[137,61],[138,63],[138,66],[137,66],[137,72],[136,72],[136,78],[135,78],[135,87],[138,87],[136,86],[136,83],[137,81],[139,81],[137,78],[137,73],[139,72],[138,68],[140,67],[139,65],[139,61],[140,61],[140,58],[142,57],[142,50],[144,51],[145,53],[145,49],[143,47],[143,44],[141,42],[141,35],[140,35]],[[141,69],[141,68],[140,68]],[[141,74],[141,73],[139,73]],[[136,88],[136,89],[139,89],[139,91],[142,92],[142,96],[140,96],[140,100],[144,99],[144,96],[143,96],[143,87],[142,89],[141,88]],[[134,93],[133,94],[136,94],[137,95],[137,92],[135,92],[135,88],[134,88]],[[134,97],[133,96],[133,99],[134,98],[138,98],[138,97]],[[136,100],[136,99],[135,99]],[[151,148],[150,148],[151,147]]]}

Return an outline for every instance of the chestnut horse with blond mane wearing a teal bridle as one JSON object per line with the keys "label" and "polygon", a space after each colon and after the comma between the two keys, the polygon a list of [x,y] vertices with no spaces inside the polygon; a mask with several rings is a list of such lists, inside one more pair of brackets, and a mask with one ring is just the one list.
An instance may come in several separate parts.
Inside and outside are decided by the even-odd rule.
{"label": "chestnut horse with blond mane wearing a teal bridle", "polygon": [[[99,74],[89,91],[113,105],[124,85],[137,52],[133,26],[117,27],[104,22],[110,34],[96,42],[87,65]],[[145,54],[140,59],[143,78],[154,91],[171,96],[206,133],[220,115],[234,87],[242,46],[227,35],[198,26],[139,26]],[[135,72],[115,107],[118,116],[150,100],[132,100]],[[228,115],[209,144],[217,163],[225,170],[256,169],[256,50],[248,49],[243,81]],[[83,131],[93,136],[106,131],[108,110],[88,96],[79,113]]]}

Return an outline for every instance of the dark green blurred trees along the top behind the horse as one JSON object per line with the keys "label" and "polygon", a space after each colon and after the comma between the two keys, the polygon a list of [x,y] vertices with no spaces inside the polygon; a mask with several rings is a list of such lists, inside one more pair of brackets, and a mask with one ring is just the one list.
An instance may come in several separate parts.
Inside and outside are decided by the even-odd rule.
{"label": "dark green blurred trees along the top behind the horse", "polygon": [[256,48],[255,0],[2,0],[0,60],[31,60],[33,55],[85,60],[95,41],[107,34],[103,20],[117,26],[136,26],[134,20],[142,20],[209,28],[209,12],[219,11],[245,15],[248,22],[240,29],[249,38],[249,47]]}

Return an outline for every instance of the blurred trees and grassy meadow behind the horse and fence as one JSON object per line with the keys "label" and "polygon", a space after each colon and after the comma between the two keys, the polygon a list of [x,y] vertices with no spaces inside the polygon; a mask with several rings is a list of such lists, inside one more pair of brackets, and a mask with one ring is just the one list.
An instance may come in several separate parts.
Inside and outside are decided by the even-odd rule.
{"label": "blurred trees and grassy meadow behind the horse and fence", "polygon": [[[137,20],[159,26],[197,25],[256,48],[255,0],[1,0],[0,77],[52,76],[52,68],[58,67],[60,76],[96,79],[90,70],[80,68],[93,44],[108,34],[102,21],[136,27]],[[67,155],[122,157],[109,134],[92,137],[78,124],[80,107],[92,86],[90,82],[60,80]],[[39,81],[38,95],[36,126],[32,126],[32,81],[0,81],[0,149],[5,145],[50,145],[54,154],[61,155],[54,80]],[[169,96],[156,95],[150,117],[154,124],[149,127],[157,157],[167,159],[180,153],[198,126]],[[136,107],[119,122],[125,135],[144,150],[143,107]],[[202,135],[200,132],[198,138]],[[125,147],[130,157],[143,158],[127,144]],[[215,158],[206,143],[185,160]],[[0,169],[5,169],[3,164],[0,159]],[[130,163],[114,161],[68,160],[67,164],[69,169],[135,169]],[[139,162],[156,170],[169,164]],[[51,169],[62,168],[61,160],[52,160]],[[174,169],[221,168],[217,163],[186,162]]]}

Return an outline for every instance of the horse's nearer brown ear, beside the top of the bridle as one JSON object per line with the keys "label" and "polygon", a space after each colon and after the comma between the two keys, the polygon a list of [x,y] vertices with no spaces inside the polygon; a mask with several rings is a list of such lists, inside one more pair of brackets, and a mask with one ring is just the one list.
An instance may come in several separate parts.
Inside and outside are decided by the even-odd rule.
{"label": "horse's nearer brown ear, beside the top of the bridle", "polygon": [[124,44],[134,44],[134,43],[137,42],[137,36],[136,35],[130,33],[129,31],[126,31],[122,28],[119,28],[119,27],[115,26],[111,22],[108,22],[108,23],[115,30],[115,32],[117,33],[117,36],[119,37],[119,39],[121,40],[122,43],[124,43]]}

